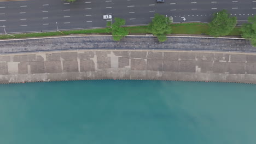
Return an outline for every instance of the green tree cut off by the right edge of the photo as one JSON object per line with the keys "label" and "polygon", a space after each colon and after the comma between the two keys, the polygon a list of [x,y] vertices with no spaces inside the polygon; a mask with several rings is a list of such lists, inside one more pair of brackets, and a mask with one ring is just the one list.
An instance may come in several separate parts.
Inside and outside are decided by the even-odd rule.
{"label": "green tree cut off by the right edge of the photo", "polygon": [[252,39],[252,45],[256,46],[256,16],[248,17],[248,23],[243,24],[241,32],[243,38]]}

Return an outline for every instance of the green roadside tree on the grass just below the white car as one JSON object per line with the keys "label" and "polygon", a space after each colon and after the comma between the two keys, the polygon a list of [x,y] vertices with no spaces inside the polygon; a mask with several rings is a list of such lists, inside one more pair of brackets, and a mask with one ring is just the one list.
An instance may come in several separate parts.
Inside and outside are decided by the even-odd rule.
{"label": "green roadside tree on the grass just below the white car", "polygon": [[114,23],[107,23],[107,26],[110,27],[108,30],[112,33],[113,40],[119,41],[129,34],[126,27],[120,27],[122,25],[125,25],[125,20],[118,17],[115,17]]}

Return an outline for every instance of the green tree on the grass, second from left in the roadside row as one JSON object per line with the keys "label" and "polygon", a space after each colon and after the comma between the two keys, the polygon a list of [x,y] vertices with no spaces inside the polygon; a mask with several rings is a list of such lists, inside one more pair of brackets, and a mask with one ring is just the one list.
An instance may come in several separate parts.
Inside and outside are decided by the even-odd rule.
{"label": "green tree on the grass, second from left in the roadside row", "polygon": [[168,17],[155,14],[154,19],[149,23],[149,32],[156,35],[160,42],[166,41],[166,34],[172,32],[171,23],[172,21]]}

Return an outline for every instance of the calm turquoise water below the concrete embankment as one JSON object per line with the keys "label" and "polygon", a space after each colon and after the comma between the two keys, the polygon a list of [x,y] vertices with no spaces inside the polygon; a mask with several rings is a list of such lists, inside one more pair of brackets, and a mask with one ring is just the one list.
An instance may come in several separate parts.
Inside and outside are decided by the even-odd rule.
{"label": "calm turquoise water below the concrete embankment", "polygon": [[0,85],[0,143],[256,143],[256,85],[72,81]]}

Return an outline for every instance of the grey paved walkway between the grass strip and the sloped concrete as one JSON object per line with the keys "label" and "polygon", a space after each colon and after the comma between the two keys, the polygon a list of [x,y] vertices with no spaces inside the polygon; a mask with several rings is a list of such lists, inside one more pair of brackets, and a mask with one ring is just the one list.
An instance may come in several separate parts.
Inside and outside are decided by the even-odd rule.
{"label": "grey paved walkway between the grass strip and the sloped concrete", "polygon": [[155,37],[125,37],[117,42],[111,36],[69,36],[60,38],[35,38],[0,40],[0,53],[38,52],[80,49],[147,49],[256,52],[248,40],[208,37],[168,37],[158,43]]}

